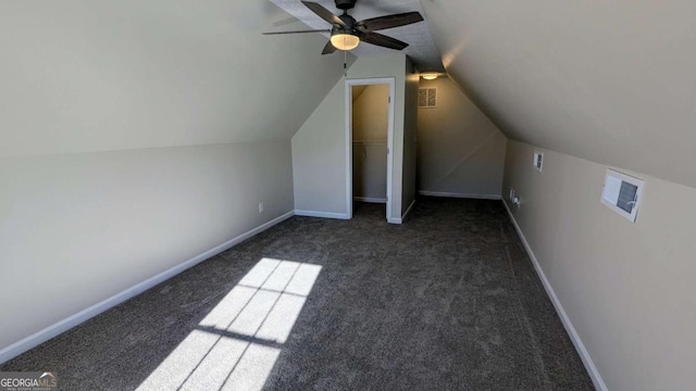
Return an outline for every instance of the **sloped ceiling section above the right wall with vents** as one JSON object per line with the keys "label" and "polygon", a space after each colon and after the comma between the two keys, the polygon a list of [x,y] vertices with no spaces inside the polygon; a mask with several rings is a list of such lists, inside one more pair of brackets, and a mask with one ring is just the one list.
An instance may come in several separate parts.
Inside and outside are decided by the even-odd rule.
{"label": "sloped ceiling section above the right wall with vents", "polygon": [[508,137],[696,187],[696,2],[422,0]]}

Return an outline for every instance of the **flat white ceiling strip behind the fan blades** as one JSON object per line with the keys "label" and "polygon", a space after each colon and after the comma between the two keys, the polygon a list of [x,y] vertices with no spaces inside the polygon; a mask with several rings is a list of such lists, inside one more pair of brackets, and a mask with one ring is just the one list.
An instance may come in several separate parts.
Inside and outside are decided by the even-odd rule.
{"label": "flat white ceiling strip behind the fan blades", "polygon": [[[331,28],[328,23],[316,16],[299,0],[271,1],[311,28]],[[322,4],[324,8],[335,14],[341,13],[341,10],[336,9],[334,0],[314,0],[314,2]],[[411,11],[418,11],[421,13],[421,15],[424,15],[421,2],[419,0],[358,0],[356,8],[348,11],[348,13],[357,21],[362,21],[370,17]],[[284,29],[286,28],[284,28],[283,25],[278,25],[273,30],[282,31]],[[415,63],[415,66],[419,71],[445,71],[445,68],[443,67],[442,56],[437,51],[437,47],[433,42],[427,21],[411,24],[408,26],[386,29],[380,33],[409,43],[409,47],[406,48],[403,52]],[[326,37],[328,37],[328,34],[326,34]],[[323,47],[316,48],[318,55],[321,54],[322,49]],[[357,49],[352,50],[352,53],[358,56],[362,56],[384,54],[386,52],[393,51],[394,50],[391,49],[380,48],[369,43],[361,43]],[[331,55],[340,55],[340,52]]]}

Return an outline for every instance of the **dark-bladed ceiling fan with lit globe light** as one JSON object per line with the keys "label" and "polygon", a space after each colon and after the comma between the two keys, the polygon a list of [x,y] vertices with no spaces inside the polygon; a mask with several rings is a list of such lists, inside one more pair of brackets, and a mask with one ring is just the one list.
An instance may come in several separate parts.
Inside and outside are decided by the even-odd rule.
{"label": "dark-bladed ceiling fan with lit globe light", "polygon": [[276,33],[263,33],[264,35],[275,34],[302,34],[302,33],[331,33],[331,39],[324,47],[322,54],[331,54],[336,50],[352,50],[360,45],[360,42],[368,42],[384,48],[403,50],[409,45],[398,39],[387,37],[385,35],[374,33],[376,30],[394,28],[399,26],[406,26],[412,23],[423,21],[418,12],[406,12],[394,15],[372,17],[364,21],[357,22],[352,16],[348,14],[348,10],[356,7],[357,0],[334,0],[336,8],[343,10],[341,15],[335,15],[331,11],[326,10],[321,4],[313,1],[302,0],[310,11],[319,15],[324,21],[331,23],[331,29],[307,29],[307,30],[294,30],[294,31],[276,31]]}

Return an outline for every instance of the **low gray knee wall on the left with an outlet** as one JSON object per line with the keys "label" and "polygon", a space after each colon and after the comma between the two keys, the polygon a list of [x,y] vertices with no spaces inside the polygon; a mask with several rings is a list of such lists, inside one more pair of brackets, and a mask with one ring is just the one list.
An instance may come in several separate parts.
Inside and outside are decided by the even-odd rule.
{"label": "low gray knee wall on the left with an outlet", "polygon": [[290,165],[289,140],[2,159],[0,346],[291,211]]}

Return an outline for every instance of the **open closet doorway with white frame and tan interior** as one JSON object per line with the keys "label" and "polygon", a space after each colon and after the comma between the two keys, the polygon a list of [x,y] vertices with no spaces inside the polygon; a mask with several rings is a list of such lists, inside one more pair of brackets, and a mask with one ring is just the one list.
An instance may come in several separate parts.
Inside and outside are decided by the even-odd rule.
{"label": "open closet doorway with white frame and tan interior", "polygon": [[356,210],[381,213],[388,220],[391,216],[394,78],[347,80],[346,94],[349,216],[353,216],[353,205],[363,205]]}

